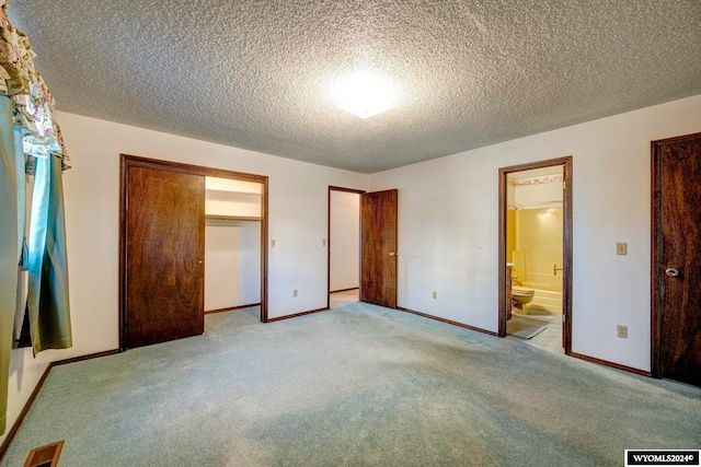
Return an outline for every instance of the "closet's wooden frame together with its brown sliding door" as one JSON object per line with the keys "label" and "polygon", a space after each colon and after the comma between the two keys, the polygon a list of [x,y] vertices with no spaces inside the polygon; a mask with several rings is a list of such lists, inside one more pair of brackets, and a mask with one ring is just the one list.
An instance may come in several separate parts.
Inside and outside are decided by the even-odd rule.
{"label": "closet's wooden frame together with its brown sliding door", "polygon": [[123,351],[204,331],[206,177],[260,184],[260,319],[267,322],[267,177],[122,154]]}

